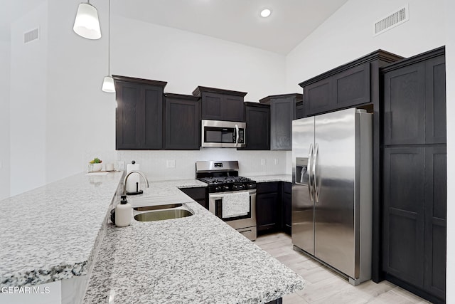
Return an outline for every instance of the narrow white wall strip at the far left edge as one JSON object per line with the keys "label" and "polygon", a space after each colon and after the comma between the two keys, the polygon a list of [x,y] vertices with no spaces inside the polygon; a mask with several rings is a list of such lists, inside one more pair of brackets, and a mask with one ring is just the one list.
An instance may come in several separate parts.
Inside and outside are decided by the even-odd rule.
{"label": "narrow white wall strip at the far left edge", "polygon": [[0,41],[0,200],[9,197],[9,79],[11,43]]}

